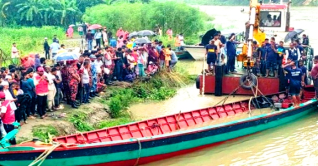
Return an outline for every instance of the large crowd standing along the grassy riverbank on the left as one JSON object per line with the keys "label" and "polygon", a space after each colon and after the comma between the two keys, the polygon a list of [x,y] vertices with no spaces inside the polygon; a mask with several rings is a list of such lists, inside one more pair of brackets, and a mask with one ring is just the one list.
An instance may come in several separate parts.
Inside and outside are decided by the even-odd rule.
{"label": "large crowd standing along the grassy riverbank on the left", "polygon": [[[87,50],[76,60],[47,65],[48,59],[65,49],[54,36],[51,45],[45,38],[45,57],[36,54],[33,65],[9,65],[1,68],[0,138],[14,129],[15,121],[23,124],[28,123],[28,118],[45,119],[47,112],[63,109],[63,102],[76,109],[82,104],[90,103],[91,98],[99,96],[114,80],[133,82],[137,78],[152,76],[159,70],[171,71],[178,61],[171,46],[164,46],[158,40],[136,44],[133,40],[124,38],[122,43],[112,43],[110,40],[105,44],[105,41],[101,41],[91,47],[90,33],[90,30],[86,33]],[[117,35],[122,37],[121,29]],[[93,49],[89,50],[90,48]],[[12,54],[16,53],[18,50],[14,43]]]}

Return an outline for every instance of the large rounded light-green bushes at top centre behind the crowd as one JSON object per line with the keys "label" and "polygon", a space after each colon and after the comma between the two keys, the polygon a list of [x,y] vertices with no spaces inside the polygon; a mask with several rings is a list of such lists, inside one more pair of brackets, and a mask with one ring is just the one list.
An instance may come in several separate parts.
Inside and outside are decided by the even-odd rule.
{"label": "large rounded light-green bushes at top centre behind the crowd", "polygon": [[123,27],[128,31],[137,31],[154,29],[159,25],[163,32],[171,27],[175,33],[191,36],[204,28],[203,15],[199,9],[182,3],[116,3],[88,8],[83,19],[107,26],[110,30]]}

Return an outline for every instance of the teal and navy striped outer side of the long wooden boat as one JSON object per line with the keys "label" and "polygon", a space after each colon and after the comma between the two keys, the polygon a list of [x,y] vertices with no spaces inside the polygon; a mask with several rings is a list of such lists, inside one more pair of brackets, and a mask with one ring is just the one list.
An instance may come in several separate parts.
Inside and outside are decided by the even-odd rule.
{"label": "teal and navy striped outer side of the long wooden boat", "polygon": [[[297,109],[288,108],[243,120],[178,131],[152,138],[130,139],[125,143],[83,144],[76,149],[57,149],[47,157],[42,165],[130,166],[136,163],[144,164],[293,122],[316,110],[316,105],[317,100],[310,100]],[[3,166],[28,165],[42,152],[43,150],[1,152],[0,163]]]}

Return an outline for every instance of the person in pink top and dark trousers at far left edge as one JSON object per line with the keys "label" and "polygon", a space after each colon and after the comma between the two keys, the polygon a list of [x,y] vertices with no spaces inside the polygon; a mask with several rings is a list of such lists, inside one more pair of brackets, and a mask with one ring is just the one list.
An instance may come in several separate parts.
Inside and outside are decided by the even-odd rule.
{"label": "person in pink top and dark trousers at far left edge", "polygon": [[[5,133],[9,133],[12,130],[14,130],[14,125],[13,123],[15,122],[15,110],[11,108],[11,103],[14,103],[12,100],[7,100],[6,99],[6,94],[4,92],[0,92],[0,102],[1,102],[1,113],[0,113],[0,117],[1,117],[1,124],[5,130]],[[2,127],[1,127],[2,128]],[[2,136],[3,135],[3,131],[1,132]],[[11,139],[9,140],[11,145],[15,145],[16,140]]]}

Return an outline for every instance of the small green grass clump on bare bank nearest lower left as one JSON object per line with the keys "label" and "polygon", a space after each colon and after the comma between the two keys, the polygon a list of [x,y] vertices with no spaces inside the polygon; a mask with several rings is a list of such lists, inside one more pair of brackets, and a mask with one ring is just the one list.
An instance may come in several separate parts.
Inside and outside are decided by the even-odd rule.
{"label": "small green grass clump on bare bank nearest lower left", "polygon": [[51,136],[58,136],[58,131],[53,126],[45,126],[45,125],[38,125],[33,126],[32,133],[34,137],[39,138],[42,141],[49,142]]}

